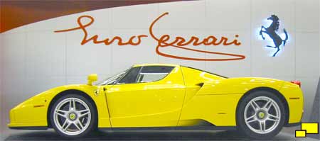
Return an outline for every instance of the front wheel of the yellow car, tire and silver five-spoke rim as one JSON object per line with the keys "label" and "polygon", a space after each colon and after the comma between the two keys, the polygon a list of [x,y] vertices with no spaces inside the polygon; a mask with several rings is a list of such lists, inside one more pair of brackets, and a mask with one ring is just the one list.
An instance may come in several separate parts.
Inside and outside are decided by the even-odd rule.
{"label": "front wheel of the yellow car, tire and silver five-spoke rim", "polygon": [[87,98],[68,94],[58,98],[50,111],[50,122],[64,137],[82,137],[95,129],[96,113]]}

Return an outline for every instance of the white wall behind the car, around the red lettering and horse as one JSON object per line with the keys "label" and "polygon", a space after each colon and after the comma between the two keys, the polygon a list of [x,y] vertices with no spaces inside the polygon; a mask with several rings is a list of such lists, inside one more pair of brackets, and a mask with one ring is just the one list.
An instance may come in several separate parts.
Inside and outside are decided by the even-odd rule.
{"label": "white wall behind the car, around the red lettering and horse", "polygon": [[[215,0],[183,1],[164,4],[124,6],[112,9],[88,11],[32,23],[2,33],[3,101],[1,111],[8,123],[9,109],[35,94],[64,84],[85,83],[86,75],[99,74],[100,79],[117,73],[132,64],[161,62],[184,64],[206,69],[229,77],[272,77],[302,81],[305,95],[304,119],[309,119],[311,104],[316,93],[320,70],[319,0]],[[156,55],[156,42],[150,38],[148,28],[156,17],[168,11],[156,25],[156,35],[164,33],[206,37],[208,35],[240,35],[239,47],[193,47],[201,50],[240,53],[245,60],[227,62],[197,62],[176,60]],[[271,14],[280,18],[279,33],[286,28],[289,42],[277,57],[270,57],[274,50],[258,38],[257,29],[265,24]],[[77,26],[78,16],[95,17],[90,35],[101,38],[120,35],[147,34],[139,46],[80,45],[80,30],[53,33]],[[208,54],[181,52],[196,57],[212,57]],[[167,51],[168,51],[167,50]],[[1,55],[2,56],[2,55]]]}

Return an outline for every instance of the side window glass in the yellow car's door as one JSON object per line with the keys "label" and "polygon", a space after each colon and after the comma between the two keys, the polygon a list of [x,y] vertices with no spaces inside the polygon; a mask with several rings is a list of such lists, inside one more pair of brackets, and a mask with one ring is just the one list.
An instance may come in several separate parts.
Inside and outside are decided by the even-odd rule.
{"label": "side window glass in the yellow car's door", "polygon": [[164,67],[164,66],[149,66],[142,67],[141,72],[139,73],[138,82],[150,82],[158,81],[164,79],[174,67]]}

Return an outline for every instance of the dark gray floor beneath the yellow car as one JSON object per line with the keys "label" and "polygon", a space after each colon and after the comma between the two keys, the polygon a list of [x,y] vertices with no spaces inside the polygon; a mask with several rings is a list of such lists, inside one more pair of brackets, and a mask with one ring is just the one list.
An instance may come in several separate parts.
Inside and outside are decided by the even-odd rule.
{"label": "dark gray floor beneath the yellow car", "polygon": [[[66,140],[53,130],[11,130],[4,140]],[[79,140],[79,139],[78,139]],[[80,140],[249,140],[237,131],[97,131]],[[272,140],[316,140],[295,138],[289,132],[280,132]],[[318,140],[319,141],[319,140]]]}

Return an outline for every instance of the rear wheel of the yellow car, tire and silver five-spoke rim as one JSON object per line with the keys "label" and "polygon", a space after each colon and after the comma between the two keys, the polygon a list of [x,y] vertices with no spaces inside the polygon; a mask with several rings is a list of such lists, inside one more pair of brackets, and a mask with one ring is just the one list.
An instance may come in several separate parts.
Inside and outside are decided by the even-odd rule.
{"label": "rear wheel of the yellow car, tire and silver five-spoke rim", "polygon": [[284,125],[284,105],[270,91],[255,91],[240,101],[237,112],[238,129],[255,139],[277,135]]}

